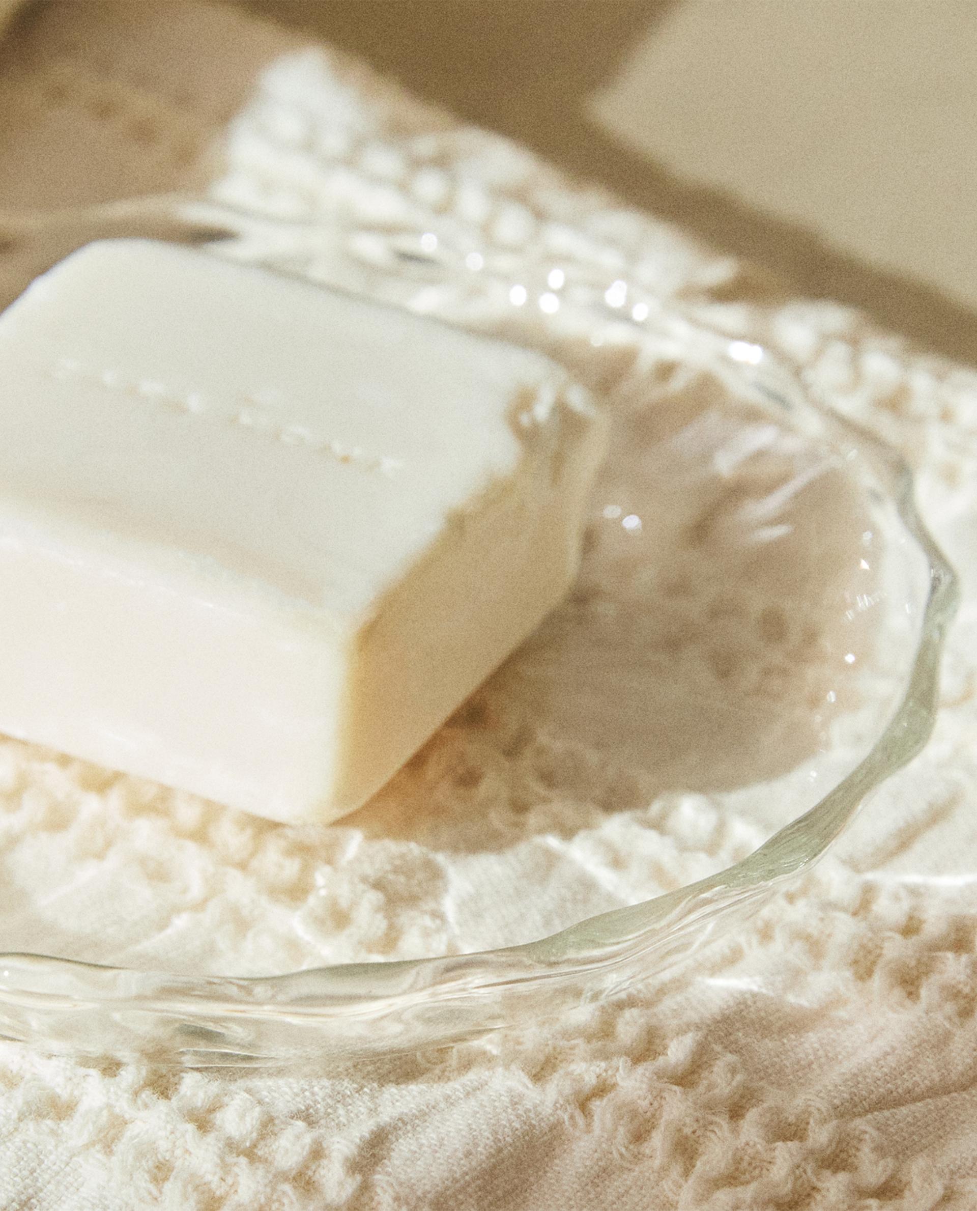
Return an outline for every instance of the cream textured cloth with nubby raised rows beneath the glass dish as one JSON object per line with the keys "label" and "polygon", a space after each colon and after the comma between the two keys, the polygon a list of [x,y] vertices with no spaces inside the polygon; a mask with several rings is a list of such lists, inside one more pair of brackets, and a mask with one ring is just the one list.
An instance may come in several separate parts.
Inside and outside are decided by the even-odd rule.
{"label": "cream textured cloth with nubby raised rows beneath the glass dish", "polygon": [[[226,10],[69,4],[42,10],[17,39],[0,67],[0,203],[209,179],[236,205],[314,207],[351,229],[416,231],[447,216],[506,252],[516,275],[562,241],[568,265],[626,271],[705,322],[799,361],[839,408],[893,441],[967,596],[927,751],[803,884],[690,970],[573,1026],[323,1074],[184,1073],[2,1044],[0,1206],[973,1206],[977,377],[829,304],[754,297],[740,266],[680,233],[615,211],[327,48]],[[214,142],[225,147],[217,168]],[[229,252],[312,277],[357,272],[329,247],[276,245],[262,229]],[[18,269],[7,272],[13,282]],[[585,348],[559,316],[517,314],[507,300],[458,306],[466,321],[546,344],[598,378],[634,354]],[[230,954],[253,970],[450,947],[448,836],[438,842],[433,827],[419,845],[398,832],[398,813],[421,790],[441,794],[442,808],[458,802],[471,781],[466,759],[488,768],[478,794],[490,793],[504,776],[494,750],[487,742],[472,757],[462,731],[435,744],[427,773],[408,773],[328,836],[6,742],[4,919],[23,930],[24,948],[31,931],[62,930],[65,953],[99,945],[103,932],[115,957],[189,969],[220,970]],[[614,894],[584,874],[621,867],[634,846],[667,853],[685,882],[758,839],[755,822],[707,794],[619,815],[608,823],[579,793],[489,821],[506,877],[524,862],[536,879],[550,855],[552,899],[519,906],[522,928],[556,928],[632,895],[637,866],[623,865]],[[490,846],[469,834],[469,885],[492,885],[501,876]],[[103,877],[107,862],[119,867],[122,909],[86,888],[86,873]],[[18,917],[17,889],[40,871],[51,894],[25,896]],[[276,912],[287,918],[281,930]],[[73,917],[84,931],[71,932]]]}

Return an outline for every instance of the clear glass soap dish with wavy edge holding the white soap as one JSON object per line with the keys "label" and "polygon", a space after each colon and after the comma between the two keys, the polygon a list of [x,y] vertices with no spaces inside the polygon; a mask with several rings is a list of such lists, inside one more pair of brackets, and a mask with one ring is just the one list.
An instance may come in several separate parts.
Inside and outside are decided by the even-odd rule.
{"label": "clear glass soap dish with wavy edge holding the white soap", "polygon": [[[450,314],[355,245],[320,277],[414,305],[420,264]],[[547,281],[597,357],[623,321]],[[561,1015],[736,929],[920,750],[956,585],[904,465],[759,346],[632,318],[570,599],[364,809],[289,830],[4,742],[0,1034],[287,1064]]]}

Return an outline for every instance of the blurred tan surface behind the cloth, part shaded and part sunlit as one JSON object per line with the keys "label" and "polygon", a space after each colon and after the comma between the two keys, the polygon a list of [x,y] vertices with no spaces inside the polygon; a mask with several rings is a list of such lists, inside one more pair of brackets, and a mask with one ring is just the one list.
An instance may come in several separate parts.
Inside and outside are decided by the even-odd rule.
{"label": "blurred tan surface behind the cloth, part shaded and part sunlit", "polygon": [[977,362],[973,0],[247,0]]}

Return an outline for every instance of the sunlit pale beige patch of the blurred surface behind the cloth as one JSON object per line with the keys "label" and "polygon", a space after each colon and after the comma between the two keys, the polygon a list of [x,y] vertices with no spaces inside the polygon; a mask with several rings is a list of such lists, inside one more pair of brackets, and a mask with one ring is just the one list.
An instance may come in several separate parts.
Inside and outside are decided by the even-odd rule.
{"label": "sunlit pale beige patch of the blurred surface behind the cloth", "polygon": [[683,0],[593,113],[690,180],[977,306],[972,0]]}

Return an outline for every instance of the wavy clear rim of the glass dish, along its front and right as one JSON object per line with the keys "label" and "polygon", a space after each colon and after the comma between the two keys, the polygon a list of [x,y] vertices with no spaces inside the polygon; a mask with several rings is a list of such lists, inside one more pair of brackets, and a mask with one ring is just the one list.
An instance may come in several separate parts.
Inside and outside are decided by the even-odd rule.
{"label": "wavy clear rim of the glass dish, along its front and right", "polygon": [[194,977],[0,953],[0,1035],[71,1054],[269,1066],[446,1045],[551,1017],[661,972],[699,949],[719,917],[753,911],[817,861],[864,798],[924,747],[959,590],[916,510],[908,466],[884,441],[812,398],[801,378],[765,350],[755,358],[762,366],[747,371],[730,356],[736,343],[729,338],[668,318],[671,335],[679,333],[690,350],[708,349],[713,363],[720,355],[730,369],[748,373],[768,400],[810,409],[829,432],[855,443],[890,488],[903,527],[929,563],[929,593],[904,694],[851,773],[742,861],[518,946],[264,977]]}

